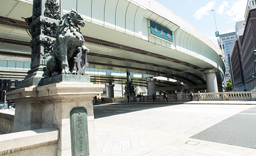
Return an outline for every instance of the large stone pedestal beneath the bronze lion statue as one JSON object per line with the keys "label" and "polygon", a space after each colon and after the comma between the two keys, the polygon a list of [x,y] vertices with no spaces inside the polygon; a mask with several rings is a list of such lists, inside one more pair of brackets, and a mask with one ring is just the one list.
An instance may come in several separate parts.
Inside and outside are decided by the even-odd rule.
{"label": "large stone pedestal beneath the bronze lion statue", "polygon": [[58,82],[8,92],[16,103],[14,132],[54,127],[60,131],[58,156],[71,156],[70,111],[87,110],[90,155],[97,155],[92,99],[105,86],[90,82]]}

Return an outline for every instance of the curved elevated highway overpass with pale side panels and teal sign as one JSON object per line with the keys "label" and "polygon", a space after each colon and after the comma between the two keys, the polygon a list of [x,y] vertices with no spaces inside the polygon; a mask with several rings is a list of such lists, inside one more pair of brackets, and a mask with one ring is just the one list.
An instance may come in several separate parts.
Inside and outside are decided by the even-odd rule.
{"label": "curved elevated highway overpass with pale side panels and teal sign", "polygon": [[[1,59],[29,62],[31,38],[21,17],[32,15],[32,0],[1,0],[1,4]],[[206,80],[207,73],[216,72],[222,88],[225,66],[218,47],[155,0],[63,0],[63,13],[71,8],[86,22],[81,31],[90,49],[90,68],[163,76],[194,89],[206,89],[212,80]],[[163,34],[156,33],[161,30]],[[110,81],[117,82],[111,77]],[[166,87],[157,90],[173,89]]]}

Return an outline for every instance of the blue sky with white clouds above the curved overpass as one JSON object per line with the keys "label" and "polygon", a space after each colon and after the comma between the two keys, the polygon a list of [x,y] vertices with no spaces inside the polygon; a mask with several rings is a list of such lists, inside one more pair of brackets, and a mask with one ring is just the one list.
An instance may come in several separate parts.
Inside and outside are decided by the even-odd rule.
{"label": "blue sky with white clouds above the curved overpass", "polygon": [[[217,30],[220,34],[235,32],[236,22],[244,20],[248,0],[156,0],[200,32],[208,36],[216,45]],[[214,13],[211,11],[214,10]]]}

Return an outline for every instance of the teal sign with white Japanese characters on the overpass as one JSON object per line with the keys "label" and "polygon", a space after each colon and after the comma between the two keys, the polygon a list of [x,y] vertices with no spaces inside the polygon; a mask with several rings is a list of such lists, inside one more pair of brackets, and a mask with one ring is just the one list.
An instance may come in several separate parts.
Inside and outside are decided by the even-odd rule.
{"label": "teal sign with white Japanese characters on the overpass", "polygon": [[150,21],[151,34],[173,42],[172,31]]}

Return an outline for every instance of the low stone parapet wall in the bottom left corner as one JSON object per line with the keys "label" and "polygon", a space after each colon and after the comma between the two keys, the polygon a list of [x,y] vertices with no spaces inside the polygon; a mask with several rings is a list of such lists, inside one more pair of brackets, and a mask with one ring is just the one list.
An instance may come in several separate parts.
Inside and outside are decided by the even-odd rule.
{"label": "low stone parapet wall in the bottom left corner", "polygon": [[59,131],[42,128],[0,137],[0,156],[56,156]]}

